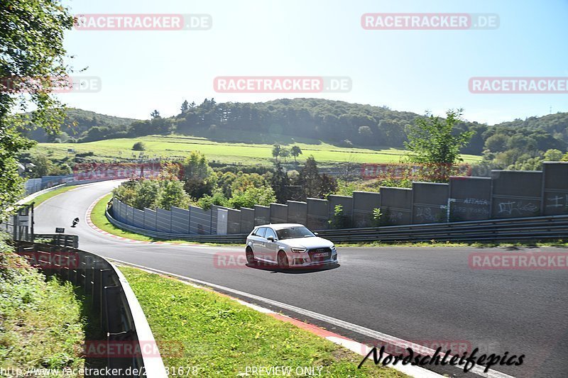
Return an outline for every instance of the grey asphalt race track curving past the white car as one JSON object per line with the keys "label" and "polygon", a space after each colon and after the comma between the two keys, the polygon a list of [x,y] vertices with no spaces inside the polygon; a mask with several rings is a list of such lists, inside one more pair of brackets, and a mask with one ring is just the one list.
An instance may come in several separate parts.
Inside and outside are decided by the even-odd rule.
{"label": "grey asphalt race track curving past the white car", "polygon": [[[525,355],[523,365],[492,368],[515,377],[568,377],[567,269],[469,268],[471,252],[511,248],[395,247],[339,248],[341,266],[315,272],[219,267],[217,253],[244,255],[244,248],[136,244],[90,228],[85,222],[87,208],[117,184],[89,184],[46,201],[35,211],[35,232],[53,233],[55,227],[65,227],[66,233],[79,235],[82,250],[262,296],[403,340],[429,345],[461,342],[481,352]],[[79,225],[70,228],[77,216]],[[568,252],[565,248],[515,250]],[[282,312],[373,343],[354,330]],[[456,367],[432,369],[455,377],[478,377]]]}

